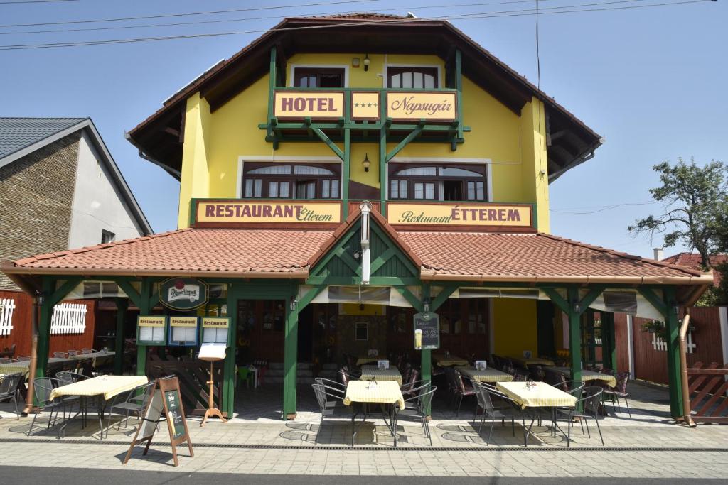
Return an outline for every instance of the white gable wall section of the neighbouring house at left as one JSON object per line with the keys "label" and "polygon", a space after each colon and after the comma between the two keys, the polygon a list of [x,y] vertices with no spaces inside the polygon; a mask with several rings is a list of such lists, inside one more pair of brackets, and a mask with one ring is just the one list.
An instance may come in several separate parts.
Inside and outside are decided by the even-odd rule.
{"label": "white gable wall section of the neighbouring house at left", "polygon": [[100,160],[84,129],[79,142],[69,249],[99,244],[103,229],[116,234],[115,241],[142,234]]}

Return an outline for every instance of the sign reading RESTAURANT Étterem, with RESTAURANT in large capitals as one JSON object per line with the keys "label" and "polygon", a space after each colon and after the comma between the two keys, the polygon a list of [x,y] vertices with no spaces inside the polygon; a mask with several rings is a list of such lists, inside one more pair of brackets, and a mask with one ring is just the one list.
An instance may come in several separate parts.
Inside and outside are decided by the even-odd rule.
{"label": "sign reading RESTAURANT \u00c9tterem, with RESTAURANT in large capitals", "polygon": [[340,201],[197,201],[199,225],[239,223],[340,224]]}

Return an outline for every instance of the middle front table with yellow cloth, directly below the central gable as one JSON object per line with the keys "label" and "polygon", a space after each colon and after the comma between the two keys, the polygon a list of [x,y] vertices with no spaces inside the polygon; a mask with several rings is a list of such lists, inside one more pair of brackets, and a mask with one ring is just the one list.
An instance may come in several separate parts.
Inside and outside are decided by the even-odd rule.
{"label": "middle front table with yellow cloth, directly below the central gable", "polygon": [[[364,409],[364,417],[362,423],[367,417],[367,404],[389,404],[389,422],[387,423],[389,433],[395,438],[395,448],[397,447],[397,408],[405,409],[405,399],[402,396],[402,390],[397,382],[394,381],[366,381],[366,380],[350,380],[347,385],[347,393],[344,395],[344,406],[351,406],[352,403],[362,403]],[[357,436],[357,426],[355,419],[357,414],[352,407],[352,446]]]}

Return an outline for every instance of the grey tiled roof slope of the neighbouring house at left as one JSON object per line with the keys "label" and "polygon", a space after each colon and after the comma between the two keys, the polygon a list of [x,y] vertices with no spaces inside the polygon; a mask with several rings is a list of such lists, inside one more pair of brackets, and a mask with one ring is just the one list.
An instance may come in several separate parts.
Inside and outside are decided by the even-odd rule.
{"label": "grey tiled roof slope of the neighbouring house at left", "polygon": [[0,118],[0,159],[86,118]]}

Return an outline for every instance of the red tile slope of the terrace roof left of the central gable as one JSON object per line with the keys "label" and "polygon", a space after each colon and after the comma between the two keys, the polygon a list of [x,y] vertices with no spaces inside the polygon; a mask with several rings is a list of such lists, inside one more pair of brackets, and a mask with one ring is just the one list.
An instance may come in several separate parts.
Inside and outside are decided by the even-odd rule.
{"label": "red tile slope of the terrace roof left of the central gable", "polygon": [[[306,278],[306,261],[331,231],[181,229],[15,261],[38,273],[190,274]],[[12,271],[12,268],[4,268]]]}

